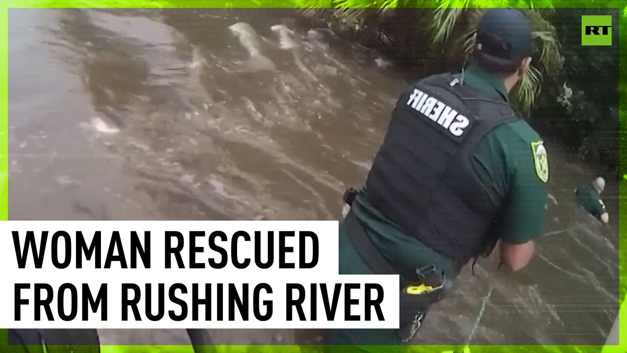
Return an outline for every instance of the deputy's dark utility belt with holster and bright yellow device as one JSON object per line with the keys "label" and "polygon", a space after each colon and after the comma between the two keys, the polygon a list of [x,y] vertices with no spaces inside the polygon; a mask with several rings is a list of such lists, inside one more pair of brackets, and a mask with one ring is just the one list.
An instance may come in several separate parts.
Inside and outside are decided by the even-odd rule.
{"label": "deputy's dark utility belt with holster and bright yellow device", "polygon": [[[344,192],[342,199],[350,206],[360,192],[362,190],[349,188]],[[398,274],[401,285],[398,334],[403,342],[409,342],[418,333],[428,308],[443,297],[446,284],[444,273],[433,264],[416,269],[416,276],[406,278],[374,246],[352,210],[349,210],[344,218],[344,224],[347,227],[350,242],[374,273]]]}

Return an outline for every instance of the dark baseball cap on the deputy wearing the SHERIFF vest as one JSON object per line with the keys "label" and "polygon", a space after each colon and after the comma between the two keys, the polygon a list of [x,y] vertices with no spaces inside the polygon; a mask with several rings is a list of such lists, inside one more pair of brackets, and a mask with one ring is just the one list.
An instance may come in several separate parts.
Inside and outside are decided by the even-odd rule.
{"label": "dark baseball cap on the deputy wearing the SHERIFF vest", "polygon": [[477,27],[478,50],[492,57],[516,60],[534,52],[529,19],[517,9],[486,11]]}

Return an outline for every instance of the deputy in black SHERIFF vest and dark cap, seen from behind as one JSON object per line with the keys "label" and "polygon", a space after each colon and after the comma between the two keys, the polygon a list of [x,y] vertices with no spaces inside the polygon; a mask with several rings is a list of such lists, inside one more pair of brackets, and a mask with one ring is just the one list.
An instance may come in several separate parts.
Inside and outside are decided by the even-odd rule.
{"label": "deputy in black SHERIFF vest and dark cap, seen from behind", "polygon": [[344,195],[350,210],[339,229],[340,274],[399,274],[401,329],[330,330],[327,345],[411,342],[462,266],[497,242],[506,268],[529,263],[544,229],[549,165],[508,93],[532,52],[525,16],[490,9],[465,70],[403,92],[365,187]]}

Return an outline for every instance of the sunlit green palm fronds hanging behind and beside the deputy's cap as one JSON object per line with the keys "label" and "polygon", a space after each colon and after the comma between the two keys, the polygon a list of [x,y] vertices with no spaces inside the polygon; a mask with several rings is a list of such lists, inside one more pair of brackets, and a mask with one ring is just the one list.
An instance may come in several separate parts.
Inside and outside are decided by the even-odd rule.
{"label": "sunlit green palm fronds hanging behind and beside the deputy's cap", "polygon": [[[406,52],[415,50],[414,54],[441,52],[443,55],[470,53],[475,42],[475,28],[485,8],[479,8],[486,1],[471,0],[386,0],[383,3],[372,3],[372,8],[364,6],[362,0],[339,0],[332,2],[336,9],[320,8],[318,0],[310,0],[310,8],[303,11],[305,16],[320,16],[337,23],[337,28],[345,31],[377,31],[381,38],[379,48],[387,52]],[[326,2],[324,2],[326,3]],[[435,8],[406,8],[408,6],[433,6]],[[493,2],[488,2],[493,5]],[[517,97],[522,109],[529,110],[540,93],[542,77],[557,72],[562,67],[563,58],[560,54],[559,42],[551,23],[542,13],[552,10],[529,9],[530,1],[519,1],[526,8],[521,10],[527,14],[534,26],[534,40],[537,45],[534,65],[525,74],[519,87]],[[381,8],[375,9],[379,4]],[[511,6],[511,4],[510,4]],[[404,25],[399,25],[399,20]],[[413,25],[411,24],[413,22]],[[408,31],[409,30],[409,31]],[[423,37],[414,43],[404,40],[404,35]],[[417,39],[417,38],[416,38]],[[402,48],[402,46],[413,46]],[[387,46],[387,48],[386,48]],[[413,55],[416,59],[418,55]],[[439,61],[439,60],[438,60]]]}

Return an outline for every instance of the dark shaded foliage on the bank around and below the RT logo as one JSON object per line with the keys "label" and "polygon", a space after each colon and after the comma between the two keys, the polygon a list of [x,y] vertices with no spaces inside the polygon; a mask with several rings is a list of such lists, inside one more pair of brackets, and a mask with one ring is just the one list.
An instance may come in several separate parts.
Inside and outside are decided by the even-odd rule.
{"label": "dark shaded foliage on the bank around and below the RT logo", "polygon": [[618,31],[613,32],[617,45],[581,46],[581,11],[557,10],[546,18],[556,28],[565,60],[562,70],[545,82],[532,121],[559,136],[581,160],[618,177]]}

